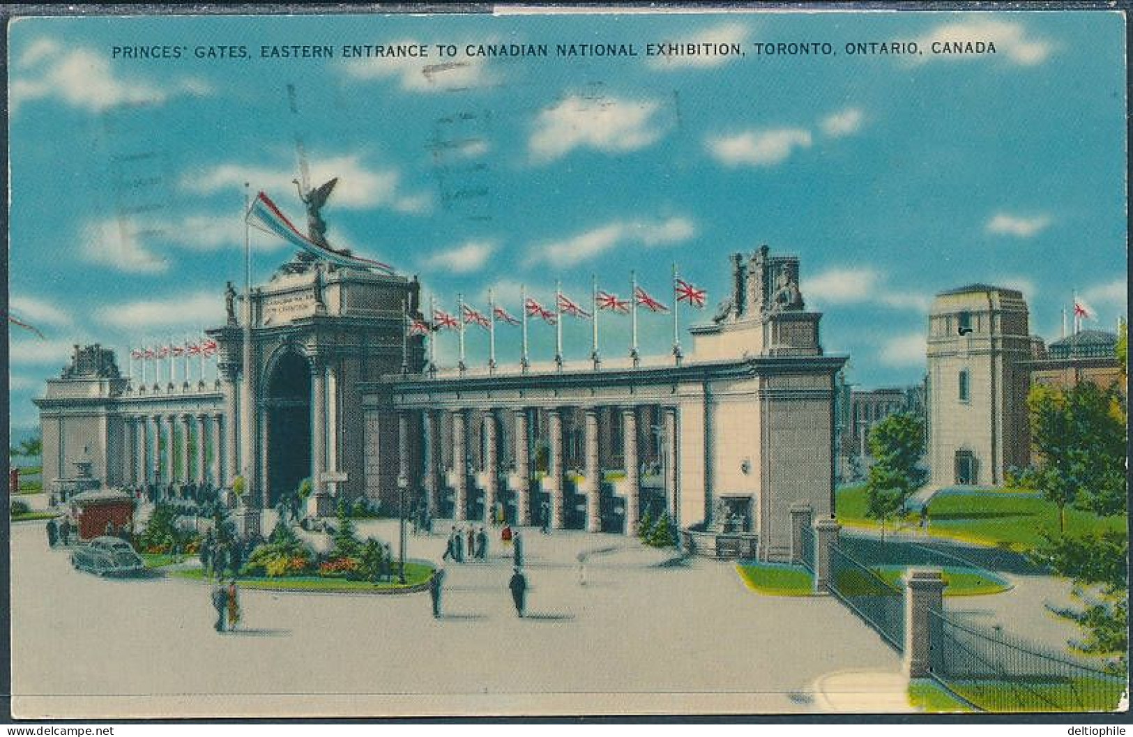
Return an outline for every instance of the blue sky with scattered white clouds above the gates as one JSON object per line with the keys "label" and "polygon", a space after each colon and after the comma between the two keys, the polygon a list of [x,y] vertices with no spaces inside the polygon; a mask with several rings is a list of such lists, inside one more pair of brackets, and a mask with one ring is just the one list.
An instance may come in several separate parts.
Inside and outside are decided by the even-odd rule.
{"label": "blue sky with scattered white clouds above the gates", "polygon": [[[995,54],[934,54],[934,40]],[[557,43],[740,43],[742,57],[559,58]],[[761,56],[757,42],[834,56]],[[915,41],[922,53],[849,54]],[[427,59],[348,60],[342,44],[423,43]],[[482,59],[474,43],[547,43]],[[113,58],[122,45],[180,59]],[[197,59],[244,45],[247,59]],[[332,44],[333,59],[263,59]],[[435,44],[455,44],[453,58]],[[664,302],[670,264],[709,293],[727,254],[798,254],[808,306],[849,380],[913,383],[926,310],[943,289],[1023,289],[1031,330],[1058,337],[1077,294],[1113,329],[1125,296],[1124,28],[1117,14],[727,14],[559,17],[37,18],[10,28],[11,422],[74,342],[119,349],[216,324],[242,280],[244,181],[297,221],[296,137],[316,184],[340,183],[333,245],[420,274],[453,310],[494,286],[582,300],[590,276]],[[289,108],[287,85],[297,111]],[[288,247],[254,232],[266,279]],[[685,313],[685,322],[710,315]],[[501,359],[518,331],[501,327]],[[589,327],[564,328],[569,358]],[[628,320],[603,321],[622,354]],[[671,322],[641,317],[646,353]],[[533,354],[553,331],[533,325]],[[471,361],[486,338],[469,333]],[[440,354],[449,357],[452,336]]]}

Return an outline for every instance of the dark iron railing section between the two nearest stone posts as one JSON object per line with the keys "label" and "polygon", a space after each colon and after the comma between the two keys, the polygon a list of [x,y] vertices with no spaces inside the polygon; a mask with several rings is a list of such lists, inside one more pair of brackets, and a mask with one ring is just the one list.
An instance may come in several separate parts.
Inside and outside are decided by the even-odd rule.
{"label": "dark iron railing section between the two nearest stone posts", "polygon": [[897,652],[904,651],[904,593],[837,545],[830,545],[830,591],[877,630]]}

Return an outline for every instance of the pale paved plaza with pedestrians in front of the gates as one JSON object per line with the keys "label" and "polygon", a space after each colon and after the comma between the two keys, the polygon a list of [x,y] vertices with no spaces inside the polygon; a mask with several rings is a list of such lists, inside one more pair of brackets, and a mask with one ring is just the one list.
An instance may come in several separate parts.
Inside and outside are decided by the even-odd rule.
{"label": "pale paved plaza with pedestrians in front of the gates", "polygon": [[[359,527],[397,550],[395,523]],[[440,530],[410,536],[409,557],[440,560]],[[903,692],[897,654],[830,598],[759,596],[732,564],[674,560],[621,535],[523,536],[525,619],[506,587],[510,551],[496,539],[487,561],[446,566],[441,619],[427,593],[244,591],[242,632],[220,635],[207,586],[80,574],[66,551],[48,548],[41,524],[14,525],[14,711],[813,712],[846,708],[847,694],[816,698],[815,688],[860,688],[862,679],[828,678],[847,670]],[[579,553],[589,553],[581,571]]]}

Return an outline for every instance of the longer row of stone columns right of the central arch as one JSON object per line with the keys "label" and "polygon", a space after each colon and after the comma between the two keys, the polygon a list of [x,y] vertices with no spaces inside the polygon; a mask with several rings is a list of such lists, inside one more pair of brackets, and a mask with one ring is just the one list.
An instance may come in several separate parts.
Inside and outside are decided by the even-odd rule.
{"label": "longer row of stone columns right of the central arch", "polygon": [[[491,523],[494,514],[504,510],[513,524],[542,525],[547,517],[552,528],[602,532],[605,515],[607,520],[619,518],[620,531],[632,533],[645,511],[642,472],[647,464],[646,473],[653,471],[651,498],[662,493],[665,510],[678,514],[676,407],[421,408],[395,413],[399,483],[419,494],[431,516]],[[578,452],[568,448],[570,438],[580,439]],[[573,461],[570,467],[569,460]],[[607,472],[615,473],[607,477]],[[611,488],[619,499],[617,515],[611,514]],[[654,500],[654,506],[659,506],[661,501]]]}

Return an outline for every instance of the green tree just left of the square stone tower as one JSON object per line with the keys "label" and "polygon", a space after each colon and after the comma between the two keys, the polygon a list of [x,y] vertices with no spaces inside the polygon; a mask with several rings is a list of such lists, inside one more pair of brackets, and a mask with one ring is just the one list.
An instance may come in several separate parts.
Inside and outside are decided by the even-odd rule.
{"label": "green tree just left of the square stone tower", "polygon": [[911,413],[896,413],[869,431],[869,452],[874,465],[866,481],[866,516],[881,523],[904,509],[909,495],[927,477],[920,466],[925,455],[925,423]]}

